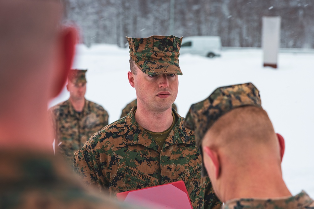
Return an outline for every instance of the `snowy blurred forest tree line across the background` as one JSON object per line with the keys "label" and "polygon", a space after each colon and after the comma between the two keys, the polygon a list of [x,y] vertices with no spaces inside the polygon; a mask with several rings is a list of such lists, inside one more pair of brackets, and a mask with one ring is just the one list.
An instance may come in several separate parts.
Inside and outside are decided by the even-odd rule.
{"label": "snowy blurred forest tree line across the background", "polygon": [[125,36],[173,31],[220,36],[223,46],[261,47],[262,17],[281,16],[281,48],[314,48],[313,0],[65,0],[65,7],[86,45],[123,47]]}

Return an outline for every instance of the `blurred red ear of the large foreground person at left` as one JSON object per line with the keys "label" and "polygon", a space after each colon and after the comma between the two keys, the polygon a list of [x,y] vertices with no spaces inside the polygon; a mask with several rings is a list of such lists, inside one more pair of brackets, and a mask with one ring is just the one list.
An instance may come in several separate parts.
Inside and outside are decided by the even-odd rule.
{"label": "blurred red ear of the large foreground person at left", "polygon": [[68,73],[72,67],[73,58],[75,54],[75,44],[77,40],[77,31],[74,27],[66,27],[62,29],[60,35],[60,69],[58,69],[58,76],[54,82],[54,90],[52,92],[52,98],[57,97],[62,91],[67,78]]}

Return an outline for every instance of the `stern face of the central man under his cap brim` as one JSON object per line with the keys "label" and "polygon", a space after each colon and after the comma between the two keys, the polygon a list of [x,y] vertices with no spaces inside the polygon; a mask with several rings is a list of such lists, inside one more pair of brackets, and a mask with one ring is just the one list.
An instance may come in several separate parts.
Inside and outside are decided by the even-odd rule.
{"label": "stern face of the central man under his cap brim", "polygon": [[163,112],[171,108],[178,94],[178,75],[148,75],[137,69],[134,86],[138,104],[153,112]]}

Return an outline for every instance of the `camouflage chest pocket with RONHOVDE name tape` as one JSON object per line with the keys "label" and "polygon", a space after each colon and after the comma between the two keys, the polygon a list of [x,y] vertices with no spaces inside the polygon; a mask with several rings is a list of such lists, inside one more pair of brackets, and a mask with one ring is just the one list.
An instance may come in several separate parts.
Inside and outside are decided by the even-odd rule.
{"label": "camouflage chest pocket with RONHOVDE name tape", "polygon": [[113,180],[111,181],[111,196],[118,192],[142,189],[158,185],[158,179],[139,170],[119,164]]}

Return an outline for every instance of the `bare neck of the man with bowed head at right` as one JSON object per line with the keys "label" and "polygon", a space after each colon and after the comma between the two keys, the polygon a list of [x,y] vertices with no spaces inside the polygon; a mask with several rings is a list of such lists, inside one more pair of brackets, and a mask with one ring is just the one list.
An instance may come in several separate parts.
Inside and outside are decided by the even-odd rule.
{"label": "bare neck of the man with bowed head at right", "polygon": [[[232,168],[231,168],[232,167]],[[230,166],[224,170],[234,170],[222,176],[220,198],[223,202],[238,198],[277,198],[291,196],[281,175],[280,165],[250,165],[250,169],[240,170]]]}

